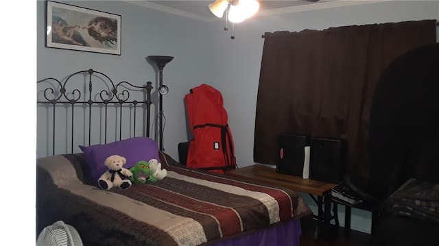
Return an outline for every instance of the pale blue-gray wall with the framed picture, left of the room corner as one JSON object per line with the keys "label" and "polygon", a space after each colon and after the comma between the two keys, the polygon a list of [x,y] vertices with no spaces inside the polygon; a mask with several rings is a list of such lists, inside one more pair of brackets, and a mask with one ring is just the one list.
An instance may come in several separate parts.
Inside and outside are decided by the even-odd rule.
{"label": "pale blue-gray wall with the framed picture, left of the room corner", "polygon": [[[166,119],[165,151],[177,157],[176,143],[187,139],[183,97],[189,93],[189,88],[209,79],[211,51],[209,51],[209,42],[206,42],[209,38],[206,33],[210,32],[208,23],[150,10],[123,1],[64,1],[64,3],[120,14],[121,56],[46,48],[45,36],[42,35],[45,34],[45,3],[38,1],[37,78],[62,79],[75,71],[91,68],[106,73],[114,82],[127,80],[141,86],[151,81],[154,88],[158,88],[158,76],[145,57],[175,56],[163,70],[163,83],[169,86],[169,94],[164,97],[163,111]],[[155,89],[153,93],[152,99],[156,103],[158,96]],[[40,109],[41,107],[38,107],[38,110]],[[37,157],[51,155],[51,147],[47,148],[46,144],[46,139],[51,138],[50,130],[45,127],[46,112],[47,110],[40,110],[37,116]],[[154,118],[156,114],[155,109],[152,117]],[[62,144],[57,143],[57,145]],[[69,145],[69,143],[64,144]],[[77,145],[74,149],[80,151]],[[63,153],[65,150],[66,148],[59,147],[56,153]]]}

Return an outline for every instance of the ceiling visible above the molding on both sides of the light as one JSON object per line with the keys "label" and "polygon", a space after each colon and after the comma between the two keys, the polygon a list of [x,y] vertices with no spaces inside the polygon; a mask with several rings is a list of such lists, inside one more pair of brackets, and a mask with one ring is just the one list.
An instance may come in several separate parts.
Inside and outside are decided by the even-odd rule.
{"label": "ceiling visible above the molding on both sides of the light", "polygon": [[[214,16],[209,10],[209,3],[211,1],[131,1],[126,2],[141,5],[145,8],[152,8],[154,10],[160,10],[171,14],[177,14],[185,16],[191,19],[197,19],[200,21],[219,21],[220,19]],[[259,12],[257,15],[274,15],[285,14],[291,12],[305,11],[305,10],[320,10],[324,8],[335,8],[346,5],[357,5],[364,3],[372,3],[377,1],[386,0],[289,0],[289,1],[277,1],[277,0],[259,0]]]}

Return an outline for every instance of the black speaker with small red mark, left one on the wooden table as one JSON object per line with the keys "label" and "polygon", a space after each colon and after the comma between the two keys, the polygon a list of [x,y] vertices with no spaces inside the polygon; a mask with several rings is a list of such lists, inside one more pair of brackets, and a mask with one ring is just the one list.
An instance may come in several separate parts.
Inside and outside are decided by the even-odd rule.
{"label": "black speaker with small red mark, left one on the wooden table", "polygon": [[309,145],[309,137],[307,136],[298,134],[279,135],[276,171],[302,177],[305,146],[307,145]]}

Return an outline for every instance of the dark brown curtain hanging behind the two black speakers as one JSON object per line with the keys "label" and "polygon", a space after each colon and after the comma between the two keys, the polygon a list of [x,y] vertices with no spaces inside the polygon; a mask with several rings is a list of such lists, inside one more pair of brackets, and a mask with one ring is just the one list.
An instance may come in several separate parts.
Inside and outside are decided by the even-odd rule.
{"label": "dark brown curtain hanging behind the two black speakers", "polygon": [[276,164],[281,133],[344,138],[346,171],[368,177],[369,114],[394,58],[436,42],[436,20],[265,33],[253,157]]}

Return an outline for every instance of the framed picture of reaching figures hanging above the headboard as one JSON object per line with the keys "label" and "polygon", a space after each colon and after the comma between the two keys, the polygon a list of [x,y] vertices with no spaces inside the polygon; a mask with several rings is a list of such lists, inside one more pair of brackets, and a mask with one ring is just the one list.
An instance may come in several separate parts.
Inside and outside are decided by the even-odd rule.
{"label": "framed picture of reaching figures hanging above the headboard", "polygon": [[46,47],[121,54],[121,16],[47,1]]}

